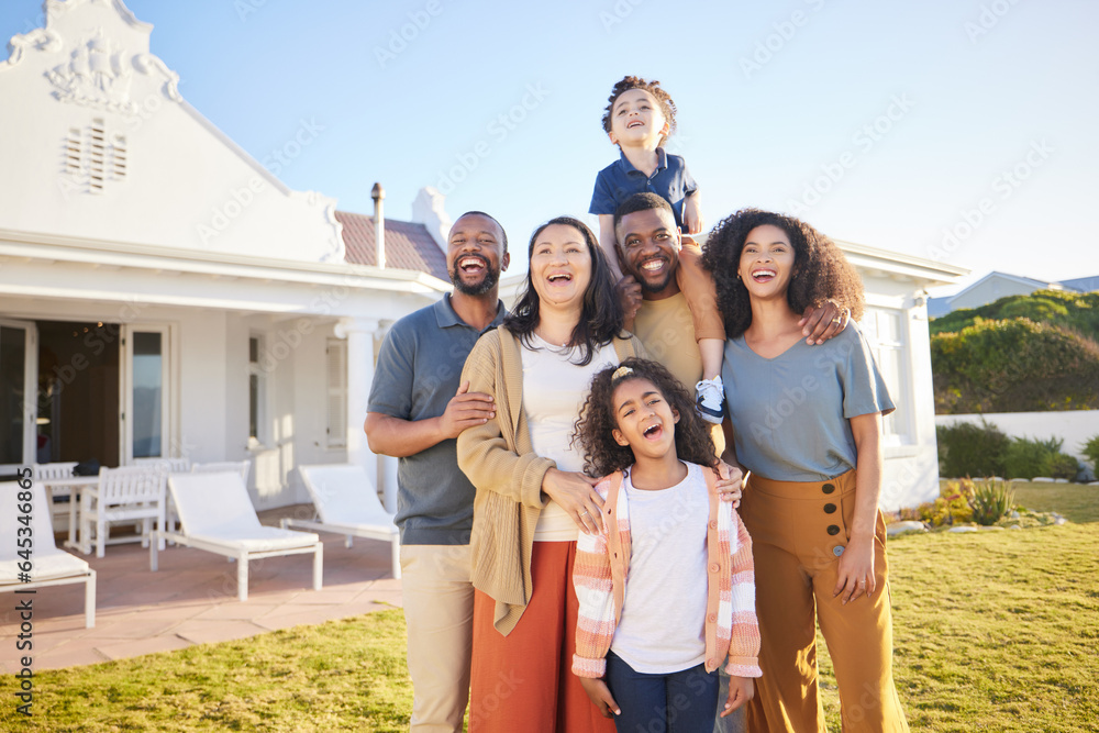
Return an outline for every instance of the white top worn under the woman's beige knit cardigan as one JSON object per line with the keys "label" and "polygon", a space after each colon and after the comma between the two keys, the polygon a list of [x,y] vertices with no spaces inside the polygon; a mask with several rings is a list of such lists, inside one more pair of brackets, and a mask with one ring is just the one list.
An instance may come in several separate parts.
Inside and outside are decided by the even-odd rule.
{"label": "white top worn under the woman's beige knit cardigan", "polygon": [[[573,427],[588,397],[591,378],[619,362],[614,346],[598,348],[586,366],[577,366],[579,349],[554,346],[531,334],[534,349],[523,348],[523,409],[531,426],[534,453],[552,458],[558,470],[584,470],[584,453],[573,447]],[[557,502],[551,501],[539,515],[535,542],[574,542],[576,522]]]}

